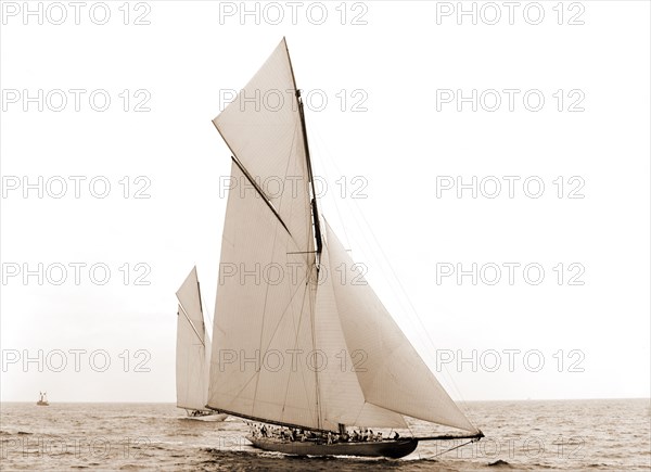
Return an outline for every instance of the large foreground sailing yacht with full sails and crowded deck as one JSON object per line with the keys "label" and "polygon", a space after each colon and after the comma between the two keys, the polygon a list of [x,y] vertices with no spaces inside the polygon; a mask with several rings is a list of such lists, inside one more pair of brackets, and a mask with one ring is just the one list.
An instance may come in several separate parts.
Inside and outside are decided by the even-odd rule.
{"label": "large foreground sailing yacht with full sails and crowded deck", "polygon": [[[359,277],[353,259],[319,213],[284,39],[213,123],[240,187],[231,188],[226,211],[207,406],[309,432],[301,442],[248,436],[258,448],[289,454],[398,458],[419,441],[483,437],[371,286],[350,284]],[[269,191],[260,182],[280,186]],[[340,278],[341,268],[347,273]],[[352,368],[358,356],[363,365]],[[346,437],[349,426],[406,429],[405,416],[463,433]]]}

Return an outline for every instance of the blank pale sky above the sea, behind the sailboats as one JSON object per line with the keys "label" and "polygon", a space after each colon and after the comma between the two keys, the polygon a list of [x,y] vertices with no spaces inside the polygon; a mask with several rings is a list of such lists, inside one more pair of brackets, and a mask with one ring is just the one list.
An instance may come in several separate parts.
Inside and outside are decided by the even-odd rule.
{"label": "blank pale sky above the sea, behind the sailboats", "polygon": [[649,397],[649,3],[516,3],[2,2],[1,400],[175,401],[210,120],[282,37],[323,214],[452,398]]}

